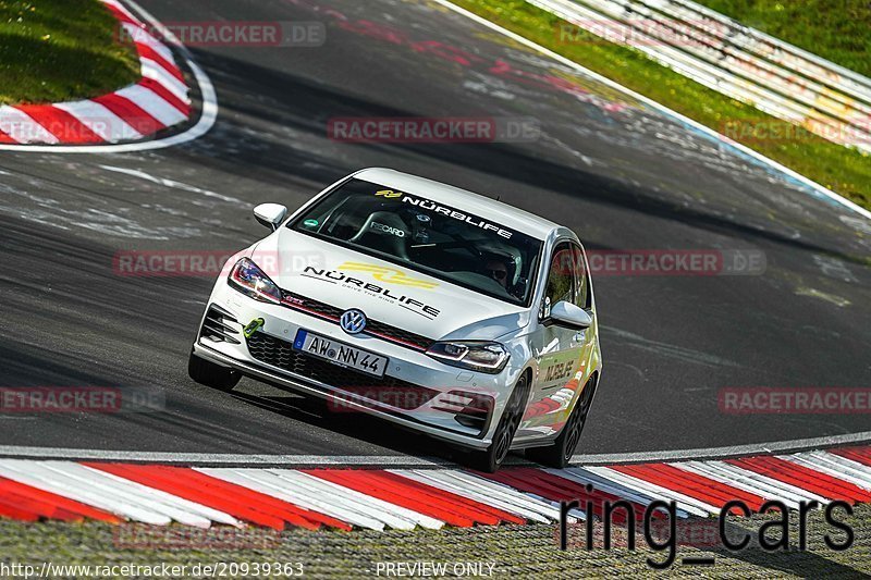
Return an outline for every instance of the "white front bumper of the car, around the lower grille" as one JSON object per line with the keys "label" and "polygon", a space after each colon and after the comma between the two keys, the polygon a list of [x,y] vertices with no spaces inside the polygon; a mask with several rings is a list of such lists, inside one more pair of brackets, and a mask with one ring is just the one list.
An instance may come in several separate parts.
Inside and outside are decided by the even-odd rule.
{"label": "white front bumper of the car, around the lower grille", "polygon": [[[222,314],[221,324],[208,320],[217,309]],[[262,326],[252,336],[249,344],[243,329],[252,321],[262,319]],[[225,330],[229,341],[216,338],[220,333],[203,332],[207,328]],[[516,381],[518,371],[512,367],[500,374],[464,371],[446,366],[418,350],[389,343],[364,334],[345,334],[338,324],[297,310],[248,298],[230,288],[223,281],[216,284],[200,331],[194,344],[194,353],[218,365],[231,367],[243,374],[269,382],[280,387],[312,394],[326,398],[335,412],[366,412],[394,423],[473,448],[484,448],[490,444],[494,422],[501,416],[510,386]],[[229,330],[226,330],[229,329]],[[291,345],[299,329],[387,356],[390,365],[384,380],[354,374],[353,386],[336,384],[343,370],[330,362],[317,362],[314,369],[308,355],[293,353],[302,365],[287,363],[287,345]],[[235,332],[234,332],[235,331]],[[263,334],[259,334],[263,333]],[[281,344],[284,355],[279,359],[265,356],[258,346],[263,341],[270,345]],[[305,359],[298,359],[305,357]],[[335,367],[334,373],[323,373],[322,366]],[[312,372],[320,369],[321,372]],[[324,380],[326,379],[326,380]],[[415,388],[419,387],[416,393]],[[483,420],[469,420],[463,404],[469,398],[457,393],[474,394],[474,403],[490,402]],[[467,410],[470,406],[467,405]],[[458,411],[458,412],[457,412]],[[478,414],[480,416],[480,414]]]}

